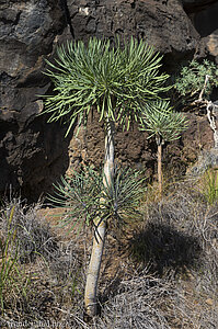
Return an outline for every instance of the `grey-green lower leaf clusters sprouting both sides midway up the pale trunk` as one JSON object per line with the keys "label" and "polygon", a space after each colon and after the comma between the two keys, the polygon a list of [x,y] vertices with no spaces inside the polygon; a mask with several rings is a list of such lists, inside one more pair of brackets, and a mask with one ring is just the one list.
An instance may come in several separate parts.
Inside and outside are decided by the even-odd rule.
{"label": "grey-green lower leaf clusters sprouting both sides midway up the pale trunk", "polygon": [[[85,168],[73,171],[71,177],[62,177],[55,185],[55,194],[49,200],[55,206],[67,208],[60,220],[61,226],[71,231],[82,226],[94,225],[99,217],[108,225],[122,228],[130,220],[141,216],[139,206],[145,193],[145,177],[141,171],[130,168],[116,168],[112,184],[103,183],[102,170]],[[97,231],[97,230],[95,230]]]}

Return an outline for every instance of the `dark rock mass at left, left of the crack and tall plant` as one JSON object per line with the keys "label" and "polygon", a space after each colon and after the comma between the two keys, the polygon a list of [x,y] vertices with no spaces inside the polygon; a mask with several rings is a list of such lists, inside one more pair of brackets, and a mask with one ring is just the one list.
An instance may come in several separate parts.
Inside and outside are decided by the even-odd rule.
{"label": "dark rock mass at left, left of the crack and tall plant", "polygon": [[58,136],[54,126],[36,116],[43,110],[39,95],[49,87],[43,75],[44,56],[66,25],[61,8],[54,3],[0,3],[0,191],[11,184],[41,193],[65,151],[59,125]]}

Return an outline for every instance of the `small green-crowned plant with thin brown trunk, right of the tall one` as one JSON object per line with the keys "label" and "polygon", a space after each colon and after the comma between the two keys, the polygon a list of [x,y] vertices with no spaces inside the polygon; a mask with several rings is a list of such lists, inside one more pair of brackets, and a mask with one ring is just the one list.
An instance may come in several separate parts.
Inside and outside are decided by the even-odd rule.
{"label": "small green-crowned plant with thin brown trunk, right of the tall one", "polygon": [[149,138],[156,137],[160,195],[162,194],[162,147],[165,141],[179,139],[186,128],[187,120],[182,113],[173,112],[169,101],[158,100],[146,105],[140,129],[147,131],[150,134]]}

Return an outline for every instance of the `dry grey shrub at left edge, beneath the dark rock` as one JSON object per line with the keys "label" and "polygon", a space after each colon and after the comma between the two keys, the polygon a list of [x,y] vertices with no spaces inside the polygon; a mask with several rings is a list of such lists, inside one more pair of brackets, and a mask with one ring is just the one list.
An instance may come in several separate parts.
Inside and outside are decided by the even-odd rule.
{"label": "dry grey shrub at left edge, beneath the dark rock", "polygon": [[38,254],[48,260],[57,250],[57,241],[50,232],[49,224],[38,214],[42,204],[28,206],[20,198],[12,198],[4,203],[0,218],[0,230],[7,234],[11,209],[14,208],[11,225],[16,230],[19,241],[19,260],[21,263],[33,262]]}

